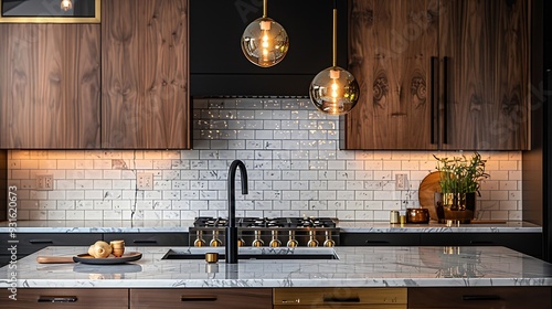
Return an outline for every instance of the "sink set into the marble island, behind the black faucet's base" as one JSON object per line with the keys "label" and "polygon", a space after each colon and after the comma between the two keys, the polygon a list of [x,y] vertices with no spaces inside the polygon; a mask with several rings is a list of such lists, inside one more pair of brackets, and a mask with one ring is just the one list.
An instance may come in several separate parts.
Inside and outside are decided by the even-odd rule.
{"label": "sink set into the marble island, behind the black faucet's base", "polygon": [[[224,259],[224,247],[171,248],[162,259],[204,259],[206,253],[217,253]],[[333,248],[240,247],[238,259],[339,259]]]}

